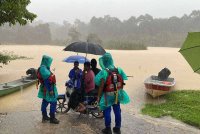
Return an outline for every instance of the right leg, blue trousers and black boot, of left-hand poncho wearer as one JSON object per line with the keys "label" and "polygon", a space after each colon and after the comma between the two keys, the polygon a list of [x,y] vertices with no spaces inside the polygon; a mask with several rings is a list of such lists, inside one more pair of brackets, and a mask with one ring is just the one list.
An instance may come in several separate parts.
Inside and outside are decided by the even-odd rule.
{"label": "right leg, blue trousers and black boot, of left-hand poncho wearer", "polygon": [[57,102],[50,102],[50,123],[59,124],[59,120],[55,118]]}

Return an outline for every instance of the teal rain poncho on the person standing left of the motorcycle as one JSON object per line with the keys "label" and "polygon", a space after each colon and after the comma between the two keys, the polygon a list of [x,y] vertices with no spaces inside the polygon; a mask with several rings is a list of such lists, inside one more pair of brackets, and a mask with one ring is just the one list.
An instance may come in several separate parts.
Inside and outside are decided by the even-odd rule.
{"label": "teal rain poncho on the person standing left of the motorcycle", "polygon": [[[51,75],[51,71],[50,71],[50,66],[52,63],[53,59],[47,55],[44,55],[42,57],[42,61],[41,61],[41,65],[40,65],[40,75],[42,77],[42,79],[46,82],[48,82],[48,78]],[[45,83],[44,82],[44,83]],[[46,95],[44,95],[44,86],[46,87],[46,84],[41,84],[40,88],[39,88],[39,92],[38,92],[38,97],[45,99],[48,102],[56,102],[57,101],[57,97],[58,97],[58,92],[57,92],[57,88],[56,85],[50,85],[51,87],[46,87]],[[53,90],[54,95],[50,95],[49,91]]]}

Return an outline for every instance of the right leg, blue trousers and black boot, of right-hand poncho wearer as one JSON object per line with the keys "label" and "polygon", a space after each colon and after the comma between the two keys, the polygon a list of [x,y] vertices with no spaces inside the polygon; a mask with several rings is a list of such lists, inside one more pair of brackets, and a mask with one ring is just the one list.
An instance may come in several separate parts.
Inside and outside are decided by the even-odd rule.
{"label": "right leg, blue trousers and black boot, of right-hand poncho wearer", "polygon": [[120,134],[120,128],[121,128],[121,108],[120,108],[120,104],[114,104],[113,105],[113,111],[115,114],[115,127],[113,128],[113,131],[116,134]]}

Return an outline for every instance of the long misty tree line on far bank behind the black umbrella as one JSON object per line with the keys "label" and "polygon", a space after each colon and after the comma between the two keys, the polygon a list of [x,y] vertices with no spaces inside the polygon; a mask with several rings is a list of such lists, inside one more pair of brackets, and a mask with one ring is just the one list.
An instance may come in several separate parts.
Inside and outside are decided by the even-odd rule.
{"label": "long misty tree line on far bank behind the black umbrella", "polygon": [[[59,35],[59,39],[63,41],[74,40],[72,34],[68,33],[70,30],[74,31],[74,36],[77,33],[77,40],[87,40],[88,36],[95,34],[103,44],[117,40],[147,46],[180,47],[188,32],[200,31],[200,11],[194,10],[189,15],[170,18],[153,18],[145,14],[121,21],[106,15],[92,17],[89,23],[76,20],[74,24],[69,24],[65,21],[63,25],[57,25],[52,35]],[[52,38],[55,39],[55,36]]]}

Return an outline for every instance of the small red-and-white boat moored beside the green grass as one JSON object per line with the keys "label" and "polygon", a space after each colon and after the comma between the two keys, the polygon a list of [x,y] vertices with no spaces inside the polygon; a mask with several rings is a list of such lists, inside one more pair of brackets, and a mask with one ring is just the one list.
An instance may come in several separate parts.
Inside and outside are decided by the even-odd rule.
{"label": "small red-and-white boat moored beside the green grass", "polygon": [[146,92],[153,98],[169,93],[175,86],[174,78],[160,80],[158,76],[151,75],[144,81]]}

